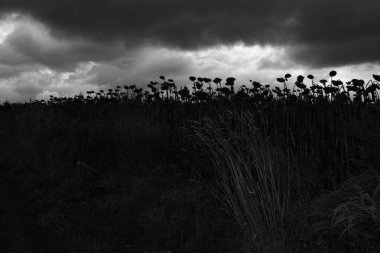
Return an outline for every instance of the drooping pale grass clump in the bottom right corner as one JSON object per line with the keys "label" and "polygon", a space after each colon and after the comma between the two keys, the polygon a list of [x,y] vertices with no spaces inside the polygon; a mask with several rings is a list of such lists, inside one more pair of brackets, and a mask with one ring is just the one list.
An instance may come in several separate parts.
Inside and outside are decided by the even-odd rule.
{"label": "drooping pale grass clump in the bottom right corner", "polygon": [[314,248],[323,252],[378,252],[380,175],[368,171],[345,181],[313,203],[310,215]]}

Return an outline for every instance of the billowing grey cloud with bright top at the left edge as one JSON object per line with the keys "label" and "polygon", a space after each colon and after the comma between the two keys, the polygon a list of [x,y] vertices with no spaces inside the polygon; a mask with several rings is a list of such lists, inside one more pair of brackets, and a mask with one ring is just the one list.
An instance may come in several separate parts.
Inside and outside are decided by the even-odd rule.
{"label": "billowing grey cloud with bright top at the left edge", "polygon": [[75,69],[78,62],[104,61],[124,52],[119,43],[99,44],[75,38],[51,37],[35,25],[19,25],[0,44],[0,63],[10,66],[40,64],[56,70]]}

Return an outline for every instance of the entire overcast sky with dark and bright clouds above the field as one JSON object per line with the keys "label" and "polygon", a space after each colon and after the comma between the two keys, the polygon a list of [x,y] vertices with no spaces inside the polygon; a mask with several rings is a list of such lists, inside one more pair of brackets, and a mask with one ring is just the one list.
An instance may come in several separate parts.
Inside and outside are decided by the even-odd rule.
{"label": "entire overcast sky with dark and bright clouds above the field", "polygon": [[146,87],[380,74],[379,0],[1,0],[0,102]]}

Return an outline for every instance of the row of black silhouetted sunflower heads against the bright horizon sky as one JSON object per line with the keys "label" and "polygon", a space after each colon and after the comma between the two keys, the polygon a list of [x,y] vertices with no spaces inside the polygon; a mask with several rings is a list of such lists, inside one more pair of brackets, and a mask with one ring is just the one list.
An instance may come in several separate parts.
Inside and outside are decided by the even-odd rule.
{"label": "row of black silhouetted sunflower heads against the bright horizon sky", "polygon": [[[87,91],[75,97],[50,96],[48,101],[36,100],[34,103],[62,103],[62,102],[144,102],[153,103],[159,101],[172,101],[181,103],[200,103],[207,101],[253,101],[257,103],[268,101],[306,101],[310,103],[336,102],[348,103],[379,103],[380,76],[373,75],[373,80],[365,82],[363,79],[352,79],[343,82],[334,77],[336,71],[329,73],[330,80],[315,80],[313,75],[306,78],[302,75],[296,77],[291,83],[291,74],[277,78],[282,87],[275,86],[273,89],[269,84],[263,85],[257,81],[250,80],[250,85],[241,85],[235,91],[236,79],[229,77],[222,83],[221,78],[213,80],[206,77],[190,76],[191,88],[181,86],[180,88],[173,79],[160,76],[161,81],[151,81],[147,84],[147,90],[136,87],[136,85],[116,86],[115,89]],[[308,81],[305,79],[309,79]]]}

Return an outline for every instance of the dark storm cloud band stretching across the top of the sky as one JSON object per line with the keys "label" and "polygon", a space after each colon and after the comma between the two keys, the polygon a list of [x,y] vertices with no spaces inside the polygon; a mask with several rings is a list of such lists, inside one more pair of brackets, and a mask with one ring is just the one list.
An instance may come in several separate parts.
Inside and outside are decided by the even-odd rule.
{"label": "dark storm cloud band stretching across the top of the sky", "polygon": [[243,42],[289,47],[291,57],[313,67],[380,60],[378,0],[2,0],[0,10],[30,15],[55,38],[126,48]]}

